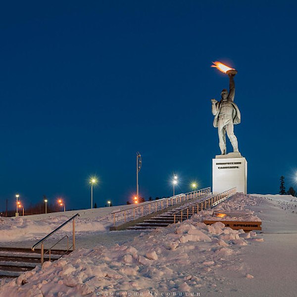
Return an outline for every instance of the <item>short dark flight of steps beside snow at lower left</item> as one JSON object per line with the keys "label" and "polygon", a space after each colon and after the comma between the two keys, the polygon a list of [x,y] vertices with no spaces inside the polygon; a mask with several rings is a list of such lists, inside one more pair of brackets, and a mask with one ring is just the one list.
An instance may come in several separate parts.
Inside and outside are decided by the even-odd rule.
{"label": "short dark flight of steps beside snow at lower left", "polygon": [[[70,253],[62,249],[51,249],[50,260],[54,261],[63,254]],[[22,247],[0,247],[0,278],[15,278],[23,272],[33,270],[40,265],[41,250]],[[44,257],[49,261],[49,255]]]}

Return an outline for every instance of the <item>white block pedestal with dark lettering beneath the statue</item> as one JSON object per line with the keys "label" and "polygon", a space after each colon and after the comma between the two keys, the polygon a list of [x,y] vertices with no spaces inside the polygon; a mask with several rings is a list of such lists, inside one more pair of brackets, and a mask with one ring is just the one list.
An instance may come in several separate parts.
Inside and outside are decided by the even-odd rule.
{"label": "white block pedestal with dark lettering beneath the statue", "polygon": [[219,194],[234,187],[237,192],[247,194],[246,158],[216,156],[212,159],[212,193]]}

